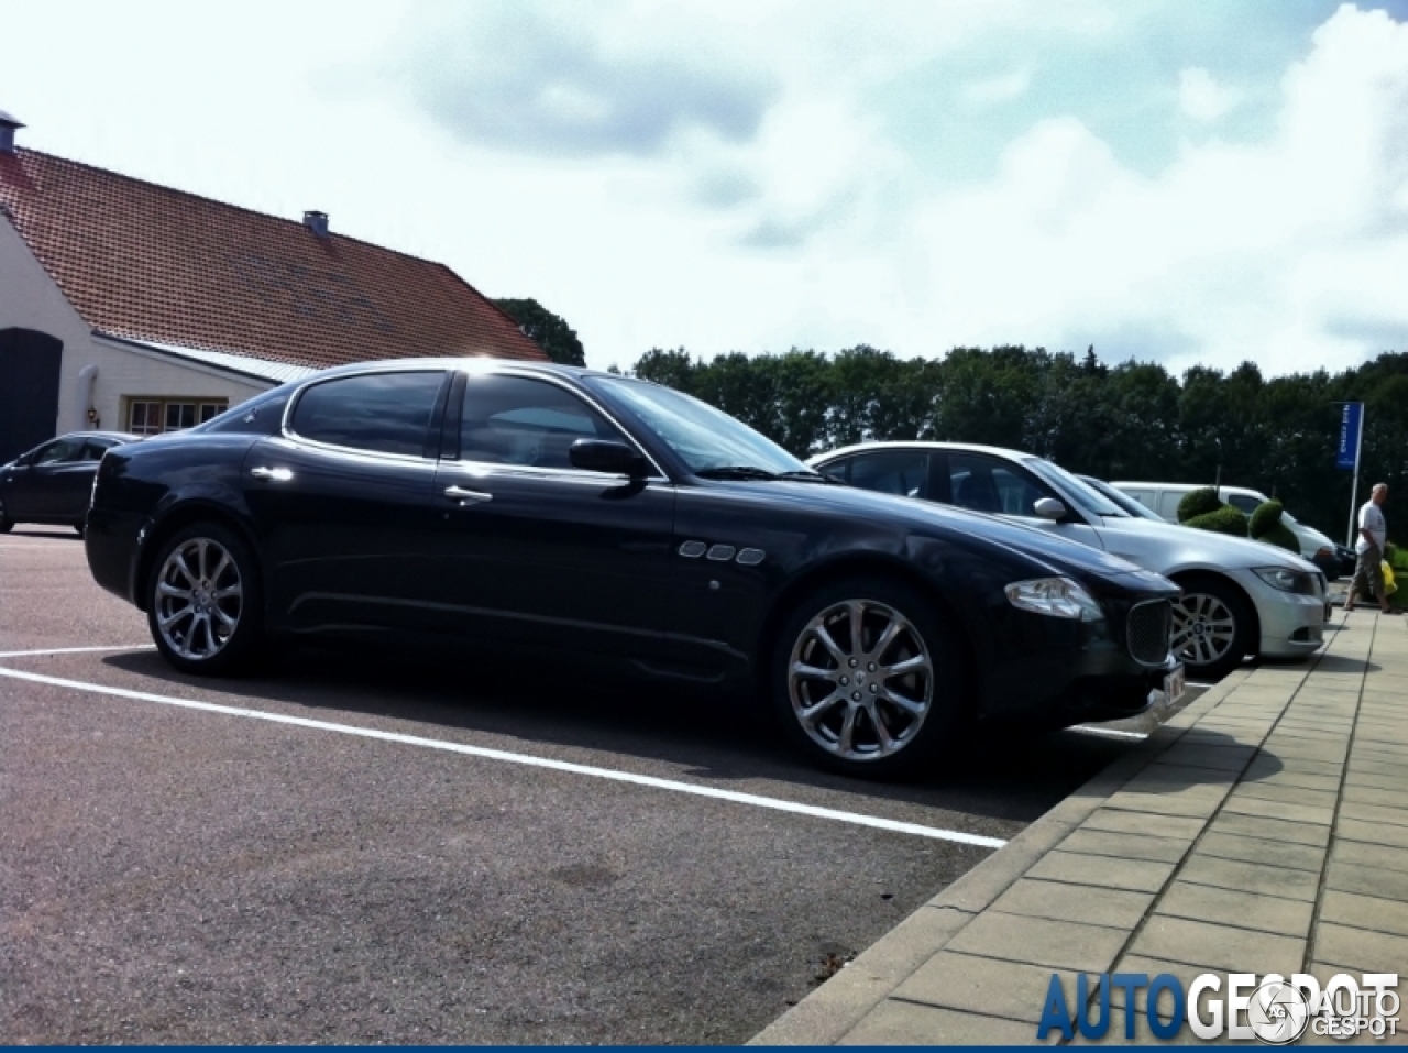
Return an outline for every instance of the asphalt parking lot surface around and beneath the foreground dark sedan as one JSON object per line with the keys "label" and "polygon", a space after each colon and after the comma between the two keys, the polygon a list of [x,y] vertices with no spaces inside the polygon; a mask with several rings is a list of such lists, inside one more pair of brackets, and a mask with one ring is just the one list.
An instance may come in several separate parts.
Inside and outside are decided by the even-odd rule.
{"label": "asphalt parking lot surface around and beneath the foreground dark sedan", "polygon": [[0,536],[11,1043],[736,1043],[1138,725],[905,786],[732,700],[508,657],[183,677],[69,531]]}

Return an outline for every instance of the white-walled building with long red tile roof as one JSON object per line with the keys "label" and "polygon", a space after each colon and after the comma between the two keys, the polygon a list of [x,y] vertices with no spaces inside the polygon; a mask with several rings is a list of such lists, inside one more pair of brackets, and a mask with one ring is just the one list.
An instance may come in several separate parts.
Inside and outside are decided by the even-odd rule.
{"label": "white-walled building with long red tile roof", "polygon": [[66,431],[156,434],[325,366],[541,360],[442,263],[18,148],[0,111],[0,462]]}

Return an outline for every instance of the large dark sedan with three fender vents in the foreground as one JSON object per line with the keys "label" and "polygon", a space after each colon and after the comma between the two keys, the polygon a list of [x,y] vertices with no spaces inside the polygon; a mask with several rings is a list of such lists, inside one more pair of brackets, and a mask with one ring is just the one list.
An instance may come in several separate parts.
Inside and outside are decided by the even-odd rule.
{"label": "large dark sedan with three fender vents in the foreground", "polygon": [[689,396],[558,366],[346,366],[115,449],[86,548],[183,671],[269,635],[608,657],[756,690],[853,774],[972,719],[1129,715],[1177,670],[1157,574],[835,484]]}

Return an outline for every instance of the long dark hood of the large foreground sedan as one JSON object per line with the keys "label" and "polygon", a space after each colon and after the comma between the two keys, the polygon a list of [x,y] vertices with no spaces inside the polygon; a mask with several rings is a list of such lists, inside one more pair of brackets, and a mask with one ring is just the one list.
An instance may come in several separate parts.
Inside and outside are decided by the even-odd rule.
{"label": "long dark hood of the large foreground sedan", "polygon": [[[1088,545],[1067,541],[1066,538],[1059,538],[1046,531],[995,515],[970,512],[964,508],[934,504],[912,497],[879,494],[872,490],[859,490],[843,484],[828,486],[790,480],[711,481],[708,486],[715,490],[734,491],[749,498],[766,496],[769,501],[786,501],[800,505],[804,510],[825,511],[852,519],[874,521],[879,517],[884,517],[890,522],[903,525],[910,534],[917,536],[946,541],[972,539],[980,545],[997,545],[1022,552],[1060,572],[1104,577],[1143,576],[1139,579],[1140,581],[1157,577],[1149,576],[1148,572],[1118,556],[1090,548]],[[1159,579],[1159,581],[1163,581],[1163,579]],[[1131,584],[1131,581],[1126,580],[1126,584]]]}

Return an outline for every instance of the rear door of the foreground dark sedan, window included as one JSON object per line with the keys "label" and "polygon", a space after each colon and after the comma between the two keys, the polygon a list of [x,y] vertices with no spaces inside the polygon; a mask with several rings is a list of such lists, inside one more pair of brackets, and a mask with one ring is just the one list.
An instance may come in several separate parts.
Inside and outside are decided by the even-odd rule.
{"label": "rear door of the foreground dark sedan, window included", "polygon": [[270,612],[283,628],[434,625],[428,550],[446,370],[369,370],[303,389],[245,456]]}

